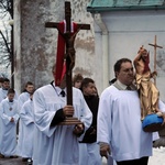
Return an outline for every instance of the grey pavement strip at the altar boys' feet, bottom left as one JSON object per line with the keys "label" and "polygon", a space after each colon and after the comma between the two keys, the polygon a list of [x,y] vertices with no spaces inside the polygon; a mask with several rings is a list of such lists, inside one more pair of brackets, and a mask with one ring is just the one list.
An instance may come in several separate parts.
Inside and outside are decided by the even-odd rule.
{"label": "grey pavement strip at the altar boys' feet, bottom left", "polygon": [[0,165],[26,165],[22,158],[0,158]]}

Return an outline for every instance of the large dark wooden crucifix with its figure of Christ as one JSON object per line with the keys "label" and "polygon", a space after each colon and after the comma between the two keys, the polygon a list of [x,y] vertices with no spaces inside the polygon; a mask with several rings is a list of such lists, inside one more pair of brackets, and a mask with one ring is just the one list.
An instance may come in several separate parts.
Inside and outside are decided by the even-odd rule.
{"label": "large dark wooden crucifix with its figure of Christ", "polygon": [[[72,30],[72,9],[70,2],[65,2],[65,23],[66,23],[66,32],[62,32],[59,30],[58,22],[46,22],[45,28],[55,28],[58,30],[58,35],[61,35],[65,43],[65,62],[66,62],[66,90],[67,90],[67,105],[73,106],[73,74],[72,70],[75,66],[75,37],[79,30],[90,30],[90,24],[76,24],[76,31]],[[64,28],[65,29],[65,28]],[[62,41],[63,42],[63,41]],[[59,43],[61,44],[61,43]],[[57,61],[56,61],[56,67]],[[59,66],[61,67],[61,66]]]}

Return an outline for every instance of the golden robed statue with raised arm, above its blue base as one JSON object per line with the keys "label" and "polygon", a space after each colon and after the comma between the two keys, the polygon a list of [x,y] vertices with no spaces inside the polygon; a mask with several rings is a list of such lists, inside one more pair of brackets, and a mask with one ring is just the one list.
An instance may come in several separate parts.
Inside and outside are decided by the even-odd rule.
{"label": "golden robed statue with raised arm, above its blue base", "polygon": [[141,120],[144,120],[144,118],[151,113],[157,113],[161,116],[161,110],[158,109],[160,91],[151,80],[151,78],[154,78],[157,73],[151,73],[148,63],[150,53],[142,46],[134,59],[136,72],[135,80],[141,101]]}

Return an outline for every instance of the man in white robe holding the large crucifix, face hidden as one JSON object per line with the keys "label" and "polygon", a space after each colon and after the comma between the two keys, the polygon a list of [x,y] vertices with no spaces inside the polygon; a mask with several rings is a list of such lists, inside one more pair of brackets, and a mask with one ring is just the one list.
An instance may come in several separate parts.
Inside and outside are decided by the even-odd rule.
{"label": "man in white robe holding the large crucifix, face hidden", "polygon": [[[55,78],[55,66],[53,67]],[[61,92],[64,90],[63,92]],[[92,114],[79,89],[73,88],[73,105],[66,103],[66,79],[61,86],[55,82],[38,88],[33,95],[36,125],[34,142],[34,165],[78,165],[78,140],[90,127]],[[58,125],[67,116],[78,118],[82,123]]]}

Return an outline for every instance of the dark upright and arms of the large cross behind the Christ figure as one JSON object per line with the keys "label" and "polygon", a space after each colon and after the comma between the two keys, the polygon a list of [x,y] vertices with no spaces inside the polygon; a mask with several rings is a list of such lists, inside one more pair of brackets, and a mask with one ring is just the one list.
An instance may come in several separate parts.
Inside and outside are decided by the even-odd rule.
{"label": "dark upright and arms of the large cross behind the Christ figure", "polygon": [[[72,59],[69,57],[69,50],[74,51],[74,38],[72,38],[70,32],[70,22],[72,22],[72,9],[70,2],[65,2],[65,21],[66,21],[66,33],[64,34],[64,38],[66,41],[66,89],[67,89],[67,105],[73,106],[73,77],[72,77]],[[79,30],[90,30],[90,24],[77,24],[78,31]],[[58,22],[46,22],[45,28],[55,28],[58,29]],[[78,33],[76,32],[76,34]],[[75,36],[76,36],[75,34]],[[75,37],[74,36],[74,37]],[[69,43],[70,42],[70,43]]]}

